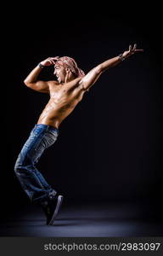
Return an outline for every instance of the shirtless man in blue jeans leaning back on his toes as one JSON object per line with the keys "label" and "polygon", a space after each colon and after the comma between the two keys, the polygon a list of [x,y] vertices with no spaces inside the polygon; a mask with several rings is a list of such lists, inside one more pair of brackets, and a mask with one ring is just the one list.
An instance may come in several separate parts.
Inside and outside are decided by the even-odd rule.
{"label": "shirtless man in blue jeans leaning back on his toes", "polygon": [[[98,80],[99,76],[110,67],[115,67],[130,55],[143,51],[137,45],[108,61],[94,67],[86,75],[77,67],[72,58],[52,57],[41,61],[25,79],[25,85],[33,90],[48,93],[50,99],[43,109],[37,125],[16,160],[14,172],[31,202],[42,206],[47,217],[47,224],[52,225],[59,212],[63,195],[51,188],[36,168],[43,151],[50,147],[59,135],[59,125],[82,101],[84,93]],[[54,75],[58,81],[40,81],[38,75],[42,68],[54,65]]]}

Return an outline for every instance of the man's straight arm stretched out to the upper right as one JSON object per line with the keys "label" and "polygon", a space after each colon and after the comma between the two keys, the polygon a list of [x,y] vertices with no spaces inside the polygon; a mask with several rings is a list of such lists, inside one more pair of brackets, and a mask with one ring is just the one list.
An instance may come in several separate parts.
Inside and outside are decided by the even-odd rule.
{"label": "man's straight arm stretched out to the upper right", "polygon": [[108,61],[104,61],[103,63],[99,64],[97,67],[94,67],[83,79],[80,81],[82,84],[82,88],[84,90],[88,90],[99,78],[99,76],[104,73],[104,71],[108,70],[110,67],[115,67],[121,61],[128,58],[130,55],[133,55],[136,52],[141,52],[143,49],[136,49],[137,44],[134,44],[133,48],[132,45],[129,46],[129,49],[124,51],[123,54],[118,55]]}

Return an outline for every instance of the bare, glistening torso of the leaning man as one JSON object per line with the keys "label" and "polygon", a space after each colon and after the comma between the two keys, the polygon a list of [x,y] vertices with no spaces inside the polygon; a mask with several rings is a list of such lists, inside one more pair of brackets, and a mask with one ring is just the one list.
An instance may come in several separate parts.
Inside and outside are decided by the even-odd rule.
{"label": "bare, glistening torso of the leaning man", "polygon": [[59,128],[60,123],[76,108],[82,100],[85,90],[79,84],[81,79],[74,79],[66,84],[49,84],[50,99],[43,109],[37,124],[52,125]]}

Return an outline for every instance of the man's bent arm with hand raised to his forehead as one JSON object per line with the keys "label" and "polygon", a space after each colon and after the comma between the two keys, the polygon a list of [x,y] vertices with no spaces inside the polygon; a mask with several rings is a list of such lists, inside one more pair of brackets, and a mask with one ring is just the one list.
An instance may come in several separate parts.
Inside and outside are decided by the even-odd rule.
{"label": "man's bent arm with hand raised to his forehead", "polygon": [[37,80],[39,73],[41,73],[42,68],[45,66],[53,65],[52,58],[48,58],[37,65],[31,73],[26,77],[24,83],[26,86],[30,87],[32,90],[37,90],[43,93],[49,93],[49,82]]}

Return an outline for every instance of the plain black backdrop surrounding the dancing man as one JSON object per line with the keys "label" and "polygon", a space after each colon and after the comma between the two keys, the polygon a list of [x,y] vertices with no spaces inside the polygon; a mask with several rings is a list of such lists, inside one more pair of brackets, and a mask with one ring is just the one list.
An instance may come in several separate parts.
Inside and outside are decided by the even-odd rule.
{"label": "plain black backdrop surrounding the dancing man", "polygon": [[[50,9],[50,6],[48,6]],[[25,7],[24,7],[25,9]],[[133,10],[133,9],[132,9]],[[158,10],[99,9],[72,13],[53,9],[21,12],[3,37],[2,166],[3,212],[28,199],[14,175],[14,162],[48,95],[23,80],[48,56],[69,55],[86,73],[138,44],[132,55],[105,72],[59,127],[58,141],[38,168],[67,201],[133,202],[149,217],[161,218],[162,201],[162,41]],[[156,15],[155,19],[153,15]],[[52,79],[53,68],[42,70]],[[147,215],[145,215],[147,216]]]}

